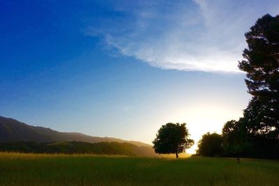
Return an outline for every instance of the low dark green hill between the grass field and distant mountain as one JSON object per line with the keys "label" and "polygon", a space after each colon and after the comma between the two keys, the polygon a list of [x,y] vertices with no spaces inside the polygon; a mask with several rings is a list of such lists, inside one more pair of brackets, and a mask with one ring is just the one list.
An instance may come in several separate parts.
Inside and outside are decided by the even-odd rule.
{"label": "low dark green hill between the grass field and distant mountain", "polygon": [[49,153],[49,154],[95,154],[95,155],[128,155],[153,156],[152,148],[135,146],[128,143],[100,142],[96,144],[70,141],[55,143],[37,143],[33,141],[17,141],[0,143],[0,151],[18,153]]}

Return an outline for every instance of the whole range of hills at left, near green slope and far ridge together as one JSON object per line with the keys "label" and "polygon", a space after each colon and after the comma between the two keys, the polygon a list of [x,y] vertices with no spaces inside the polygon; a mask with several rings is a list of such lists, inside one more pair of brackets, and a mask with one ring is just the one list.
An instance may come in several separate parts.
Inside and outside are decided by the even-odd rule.
{"label": "whole range of hills at left, near green slope and far ridge together", "polygon": [[[158,155],[151,145],[140,141],[91,137],[77,132],[58,132],[2,116],[0,116],[0,151],[174,157],[174,155]],[[189,156],[187,153],[181,155]]]}

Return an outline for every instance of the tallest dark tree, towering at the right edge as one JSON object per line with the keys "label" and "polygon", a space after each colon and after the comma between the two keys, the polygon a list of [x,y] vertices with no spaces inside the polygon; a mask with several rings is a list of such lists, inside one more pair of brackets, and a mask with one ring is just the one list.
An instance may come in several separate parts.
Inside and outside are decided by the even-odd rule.
{"label": "tallest dark tree, towering at the right edge", "polygon": [[246,85],[252,95],[244,118],[248,133],[279,138],[279,15],[267,14],[246,33],[248,48],[239,68],[247,72]]}

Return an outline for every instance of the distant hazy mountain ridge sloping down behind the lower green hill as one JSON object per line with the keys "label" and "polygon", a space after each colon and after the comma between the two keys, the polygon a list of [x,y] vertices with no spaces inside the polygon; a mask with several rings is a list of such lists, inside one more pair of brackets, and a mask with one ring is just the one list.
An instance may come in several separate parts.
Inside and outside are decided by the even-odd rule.
{"label": "distant hazy mountain ridge sloping down behind the lower green hill", "polygon": [[140,141],[126,141],[110,137],[91,137],[77,132],[58,132],[50,128],[27,125],[13,118],[0,116],[0,142],[36,141],[38,143],[83,141],[88,143],[118,142],[140,147],[149,147]]}

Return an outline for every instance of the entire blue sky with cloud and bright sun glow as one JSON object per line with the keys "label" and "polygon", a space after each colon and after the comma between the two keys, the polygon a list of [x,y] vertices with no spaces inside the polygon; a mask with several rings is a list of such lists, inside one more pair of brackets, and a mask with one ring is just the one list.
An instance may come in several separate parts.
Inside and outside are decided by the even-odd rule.
{"label": "entire blue sky with cloud and bright sun glow", "polygon": [[[0,116],[151,144],[242,116],[244,33],[279,1],[0,1]],[[197,145],[188,150],[195,153]]]}

